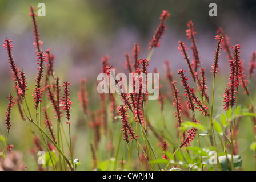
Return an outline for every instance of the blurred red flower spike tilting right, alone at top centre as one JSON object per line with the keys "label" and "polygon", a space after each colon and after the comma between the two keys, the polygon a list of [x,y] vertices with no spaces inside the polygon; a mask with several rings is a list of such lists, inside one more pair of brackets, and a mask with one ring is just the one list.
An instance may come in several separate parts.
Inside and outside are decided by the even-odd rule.
{"label": "blurred red flower spike tilting right, alone at top centre", "polygon": [[160,39],[166,30],[165,22],[166,22],[167,18],[169,18],[169,17],[170,17],[170,13],[167,10],[163,10],[162,14],[159,18],[161,20],[161,22],[158,24],[157,30],[155,30],[153,39],[151,39],[149,42],[149,50],[151,48],[160,46],[160,43],[159,43],[161,41]]}

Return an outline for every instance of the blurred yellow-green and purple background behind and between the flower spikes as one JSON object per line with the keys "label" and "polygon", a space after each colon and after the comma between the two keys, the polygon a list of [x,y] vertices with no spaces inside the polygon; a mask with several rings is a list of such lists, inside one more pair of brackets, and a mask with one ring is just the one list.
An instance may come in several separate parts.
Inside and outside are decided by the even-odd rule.
{"label": "blurred yellow-green and purple background behind and between the flower spikes", "polygon": [[[82,113],[77,99],[79,81],[82,78],[87,78],[89,110],[96,110],[99,108],[96,80],[98,73],[101,72],[101,57],[108,54],[110,64],[117,68],[118,72],[126,73],[125,53],[131,55],[133,44],[139,43],[141,44],[141,58],[147,56],[148,42],[154,34],[162,10],[169,10],[171,16],[166,23],[167,31],[163,35],[161,47],[155,49],[151,57],[149,71],[153,71],[154,67],[158,68],[163,93],[171,94],[165,78],[165,67],[163,66],[165,60],[170,61],[174,79],[178,82],[177,69],[187,70],[187,65],[178,51],[177,42],[183,40],[190,47],[190,40],[187,40],[185,32],[189,20],[193,20],[197,31],[197,44],[202,64],[206,68],[210,96],[213,80],[210,71],[216,46],[215,31],[218,27],[222,26],[229,35],[231,46],[241,44],[241,59],[245,60],[246,69],[251,52],[255,51],[256,5],[254,1],[213,1],[217,3],[218,16],[212,18],[208,14],[210,10],[208,1],[0,1],[0,41],[3,43],[6,37],[13,40],[15,63],[26,73],[29,88],[27,100],[31,110],[34,107],[31,94],[38,65],[33,46],[33,24],[28,14],[30,13],[29,7],[35,6],[35,9],[38,9],[37,5],[40,2],[46,5],[46,16],[37,18],[39,33],[43,41],[42,49],[52,48],[52,53],[56,57],[55,76],[60,77],[61,82],[66,80],[71,82],[70,97],[73,101],[71,134],[77,138],[74,153],[75,158],[82,163],[78,167],[80,170],[91,169],[90,143],[93,141],[93,133],[89,127],[90,117]],[[191,55],[191,52],[189,53]],[[3,47],[0,47],[0,59],[0,127],[5,136],[5,112],[8,102],[6,97],[9,92],[14,92],[14,89],[6,50]],[[228,62],[223,52],[221,52],[219,65],[220,73],[215,85],[214,102],[216,116],[224,112],[222,110],[223,92],[227,86],[229,74]],[[253,100],[255,100],[254,82],[255,78],[253,77],[250,84]],[[183,93],[180,82],[178,85]],[[119,102],[121,103],[121,101]],[[246,106],[242,95],[239,96],[239,104]],[[170,133],[175,135],[176,120],[173,112],[172,101],[166,100],[165,122]],[[146,113],[155,128],[159,131],[164,130],[158,101],[149,101]],[[53,114],[51,114],[51,118],[53,118]],[[86,125],[80,126],[81,121],[86,121]],[[242,156],[242,167],[245,170],[255,170],[254,151],[250,149],[250,144],[254,139],[251,122],[250,118],[244,118],[239,125],[239,155]],[[12,110],[11,124],[13,126],[11,126],[8,143],[14,144],[14,150],[22,151],[27,170],[36,170],[37,159],[29,153],[30,148],[33,147],[31,125],[21,121],[17,107]],[[37,131],[33,126],[31,127],[32,130]],[[115,126],[111,126],[111,128],[115,129],[113,130],[113,144],[117,147],[121,122],[115,123]],[[154,135],[150,136],[154,150],[161,158],[161,146],[157,144],[158,140]],[[3,143],[0,143],[0,146],[3,148]],[[121,146],[118,160],[121,160],[122,157],[128,160],[125,141],[121,141]],[[134,146],[133,156],[137,158],[135,148],[136,146]],[[170,146],[170,148],[172,147]],[[106,152],[106,138],[101,140],[97,157],[101,162],[110,158]]]}

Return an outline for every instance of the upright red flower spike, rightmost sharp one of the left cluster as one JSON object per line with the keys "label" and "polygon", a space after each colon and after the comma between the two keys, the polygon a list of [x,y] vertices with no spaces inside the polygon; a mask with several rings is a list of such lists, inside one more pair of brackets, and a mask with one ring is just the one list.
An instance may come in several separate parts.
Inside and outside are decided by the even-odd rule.
{"label": "upright red flower spike, rightmost sharp one of the left cluster", "polygon": [[62,106],[62,109],[63,110],[66,110],[66,118],[67,118],[67,124],[70,125],[69,123],[69,120],[70,120],[70,108],[71,108],[71,104],[72,102],[70,101],[70,97],[69,97],[69,85],[70,83],[69,82],[64,82],[64,85],[62,85],[64,87],[64,97],[62,98],[62,102],[61,104],[63,105]]}

